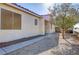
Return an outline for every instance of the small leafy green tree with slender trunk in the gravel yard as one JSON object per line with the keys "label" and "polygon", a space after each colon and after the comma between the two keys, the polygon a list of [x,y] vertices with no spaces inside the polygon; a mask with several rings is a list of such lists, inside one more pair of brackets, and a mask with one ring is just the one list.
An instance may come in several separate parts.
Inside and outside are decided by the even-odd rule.
{"label": "small leafy green tree with slender trunk in the gravel yard", "polygon": [[75,20],[78,16],[78,11],[70,3],[55,4],[50,11],[50,19],[61,31],[63,39],[65,38],[65,32],[72,28],[76,23]]}

